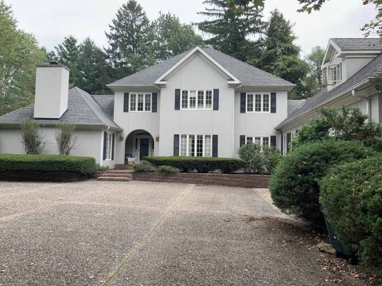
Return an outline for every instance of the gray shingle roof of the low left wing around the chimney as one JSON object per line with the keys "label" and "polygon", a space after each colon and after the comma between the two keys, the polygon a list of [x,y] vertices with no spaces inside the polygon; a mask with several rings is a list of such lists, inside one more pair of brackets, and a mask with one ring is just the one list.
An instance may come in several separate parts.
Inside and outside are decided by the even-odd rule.
{"label": "gray shingle roof of the low left wing around the chimney", "polygon": [[[26,106],[0,117],[0,124],[20,124],[27,117],[33,119],[34,105]],[[37,119],[39,124],[67,122],[76,125],[110,126],[122,130],[94,101],[92,96],[78,87],[69,90],[67,111],[60,119]]]}

